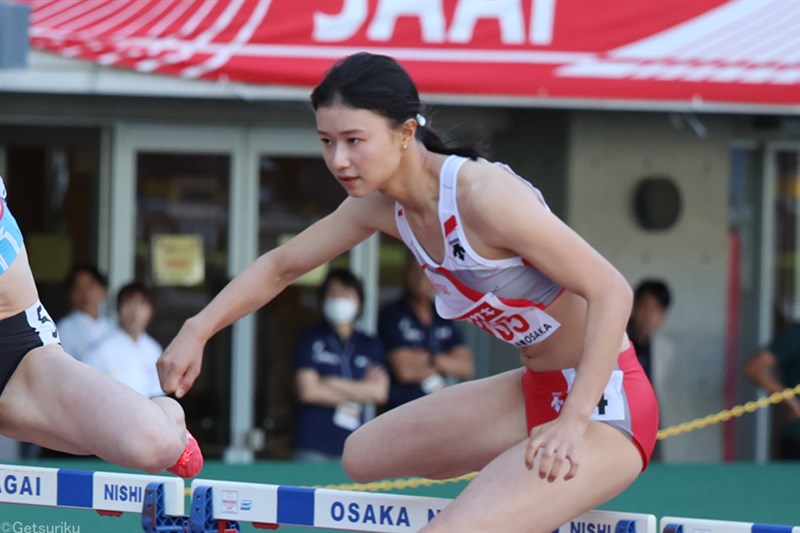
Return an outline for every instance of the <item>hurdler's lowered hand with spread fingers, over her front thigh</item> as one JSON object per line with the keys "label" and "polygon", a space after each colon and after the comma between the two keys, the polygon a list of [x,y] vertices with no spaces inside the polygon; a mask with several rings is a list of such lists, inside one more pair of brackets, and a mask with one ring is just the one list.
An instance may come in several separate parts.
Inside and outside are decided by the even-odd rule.
{"label": "hurdler's lowered hand with spread fingers, over her front thigh", "polygon": [[580,466],[580,446],[587,425],[587,420],[562,412],[555,420],[533,428],[525,448],[525,466],[532,470],[538,456],[539,477],[552,483],[568,463],[564,480],[574,478]]}

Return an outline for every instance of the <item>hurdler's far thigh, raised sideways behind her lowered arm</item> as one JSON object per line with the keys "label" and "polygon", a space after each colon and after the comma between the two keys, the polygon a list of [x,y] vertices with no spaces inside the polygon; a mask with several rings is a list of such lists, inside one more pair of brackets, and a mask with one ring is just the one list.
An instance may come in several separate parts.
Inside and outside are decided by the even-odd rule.
{"label": "hurdler's far thigh, raised sideways behind her lowered arm", "polygon": [[368,422],[345,447],[361,480],[473,472],[526,437],[522,370],[446,387]]}

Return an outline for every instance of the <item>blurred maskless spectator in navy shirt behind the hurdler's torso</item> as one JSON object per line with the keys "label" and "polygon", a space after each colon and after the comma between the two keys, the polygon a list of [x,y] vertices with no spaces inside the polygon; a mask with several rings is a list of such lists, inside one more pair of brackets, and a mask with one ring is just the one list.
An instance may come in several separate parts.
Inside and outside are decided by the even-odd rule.
{"label": "blurred maskless spectator in navy shirt behind the hurdler's torso", "polygon": [[409,257],[405,294],[381,310],[378,323],[391,378],[387,409],[475,372],[472,350],[458,327],[436,314],[434,295],[433,284]]}

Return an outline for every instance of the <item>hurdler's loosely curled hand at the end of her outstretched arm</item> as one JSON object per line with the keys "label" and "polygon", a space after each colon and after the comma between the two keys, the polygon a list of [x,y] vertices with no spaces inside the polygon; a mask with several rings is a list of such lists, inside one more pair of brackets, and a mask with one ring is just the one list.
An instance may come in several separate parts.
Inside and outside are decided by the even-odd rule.
{"label": "hurdler's loosely curled hand at the end of her outstretched arm", "polygon": [[165,393],[174,392],[176,398],[181,398],[189,392],[200,375],[204,347],[205,341],[184,324],[156,363],[158,379]]}

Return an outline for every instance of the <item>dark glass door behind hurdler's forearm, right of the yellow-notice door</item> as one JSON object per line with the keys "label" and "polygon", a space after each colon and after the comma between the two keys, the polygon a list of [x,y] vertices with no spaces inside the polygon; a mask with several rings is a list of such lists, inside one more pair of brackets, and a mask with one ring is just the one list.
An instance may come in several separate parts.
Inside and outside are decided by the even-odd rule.
{"label": "dark glass door behind hurdler's forearm, right of the yellow-notice door", "polygon": [[[253,134],[251,158],[258,177],[258,254],[291,239],[345,199],[321,157],[312,128]],[[307,274],[257,313],[256,425],[266,433],[263,455],[291,454],[294,377],[291,359],[298,333],[318,322],[317,287],[331,266],[348,267],[349,255]]]}

